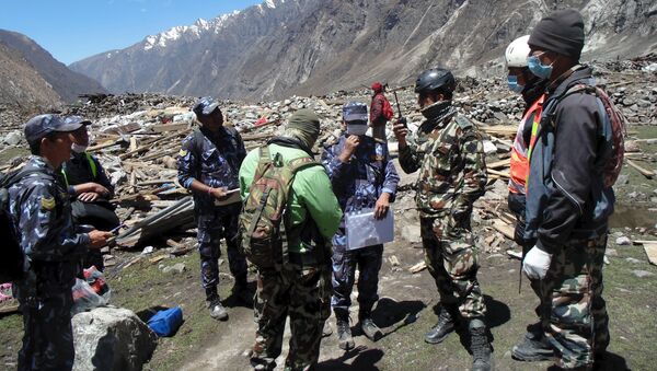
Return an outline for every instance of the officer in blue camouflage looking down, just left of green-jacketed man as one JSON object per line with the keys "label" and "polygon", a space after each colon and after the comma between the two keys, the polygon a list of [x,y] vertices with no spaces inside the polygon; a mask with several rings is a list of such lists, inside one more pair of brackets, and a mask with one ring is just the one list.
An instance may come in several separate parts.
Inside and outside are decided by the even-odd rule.
{"label": "officer in blue camouflage looking down, just left of green-jacketed man", "polygon": [[194,194],[194,210],[198,225],[200,277],[209,302],[210,315],[228,318],[221,305],[219,285],[219,243],[226,239],[230,273],[235,279],[232,293],[250,302],[246,286],[246,260],[240,253],[238,221],[241,211],[238,174],[246,156],[244,142],[232,127],[223,126],[219,104],[210,97],[200,98],[193,108],[200,123],[183,141],[178,155],[178,181]]}

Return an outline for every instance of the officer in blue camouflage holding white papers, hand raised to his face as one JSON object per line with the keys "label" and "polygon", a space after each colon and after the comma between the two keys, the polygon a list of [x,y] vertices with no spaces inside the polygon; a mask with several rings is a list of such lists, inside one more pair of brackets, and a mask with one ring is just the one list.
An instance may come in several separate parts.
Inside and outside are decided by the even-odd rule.
{"label": "officer in blue camouflage holding white papers, hand raised to his face", "polygon": [[[332,146],[326,146],[322,163],[326,167],[335,196],[345,213],[362,208],[373,208],[374,217],[381,219],[394,200],[399,175],[390,161],[384,141],[365,136],[367,106],[358,102],[343,107],[343,127],[346,132]],[[358,278],[358,320],[362,333],[371,340],[381,337],[381,331],[372,322],[371,310],[377,300],[379,270],[383,245],[347,248],[345,220],[333,237],[333,297],[331,304],[337,320],[338,345],[348,350],[354,347],[349,328],[349,304],[355,281]]]}

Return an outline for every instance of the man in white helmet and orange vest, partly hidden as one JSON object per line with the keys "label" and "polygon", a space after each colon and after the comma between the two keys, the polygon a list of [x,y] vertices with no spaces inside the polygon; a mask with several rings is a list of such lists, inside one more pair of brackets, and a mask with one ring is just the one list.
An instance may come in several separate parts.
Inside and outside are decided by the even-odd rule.
{"label": "man in white helmet and orange vest, partly hidden", "polygon": [[[525,114],[522,115],[520,125],[518,125],[518,132],[516,134],[511,149],[511,177],[508,185],[508,206],[516,215],[514,240],[522,247],[523,256],[535,243],[535,239],[525,237],[525,186],[529,173],[529,149],[537,134],[535,130],[532,130],[532,127],[538,129],[545,98],[545,80],[533,76],[527,67],[527,56],[529,55],[528,39],[529,35],[516,38],[509,44],[505,53],[509,89],[516,93],[520,93],[526,102]],[[540,280],[530,278],[530,285],[540,300]],[[543,304],[541,302],[535,309],[539,317],[541,317]],[[514,347],[511,356],[522,361],[540,361],[554,357],[554,350],[543,335],[541,322],[527,326],[527,333],[522,341]]]}

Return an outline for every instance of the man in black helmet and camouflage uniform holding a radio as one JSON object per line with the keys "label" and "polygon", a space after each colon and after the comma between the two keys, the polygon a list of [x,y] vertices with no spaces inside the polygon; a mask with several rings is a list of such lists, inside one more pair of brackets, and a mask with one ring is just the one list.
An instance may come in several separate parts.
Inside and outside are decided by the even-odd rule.
{"label": "man in black helmet and camouflage uniform holding a radio", "polygon": [[440,294],[438,324],[425,341],[441,343],[453,331],[454,320],[462,317],[469,322],[473,370],[489,370],[486,306],[476,280],[477,250],[470,228],[472,205],[485,190],[486,165],[476,127],[451,105],[454,86],[448,70],[422,72],[415,92],[426,120],[413,141],[406,141],[405,121],[395,123],[394,134],[402,169],[419,170],[415,201],[425,260]]}

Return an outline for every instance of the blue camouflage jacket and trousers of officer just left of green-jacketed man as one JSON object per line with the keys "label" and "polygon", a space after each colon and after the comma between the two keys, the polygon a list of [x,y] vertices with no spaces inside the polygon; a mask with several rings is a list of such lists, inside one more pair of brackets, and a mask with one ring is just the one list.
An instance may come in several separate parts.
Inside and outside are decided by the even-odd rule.
{"label": "blue camouflage jacket and trousers of officer just left of green-jacketed man", "polygon": [[[178,155],[178,181],[187,189],[192,182],[227,189],[240,188],[238,174],[246,156],[244,142],[234,128],[221,127],[217,132],[200,129],[183,140]],[[215,206],[208,194],[194,193],[194,210],[198,225],[198,251],[203,287],[216,290],[219,283],[219,242],[226,239],[230,273],[237,285],[246,285],[246,260],[240,253],[238,221],[241,202]]]}

